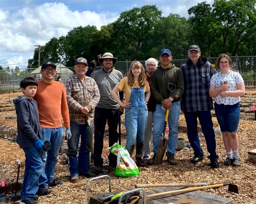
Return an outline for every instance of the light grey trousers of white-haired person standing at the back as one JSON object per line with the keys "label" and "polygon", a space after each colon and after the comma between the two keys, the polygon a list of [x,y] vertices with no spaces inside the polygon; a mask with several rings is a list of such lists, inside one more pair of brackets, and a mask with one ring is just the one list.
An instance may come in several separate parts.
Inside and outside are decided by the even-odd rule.
{"label": "light grey trousers of white-haired person standing at the back", "polygon": [[145,129],[145,138],[143,143],[143,153],[144,156],[150,156],[151,149],[150,149],[150,142],[152,137],[152,129],[153,129],[153,123],[154,123],[154,115],[155,111],[148,111],[148,120],[147,120],[147,126]]}

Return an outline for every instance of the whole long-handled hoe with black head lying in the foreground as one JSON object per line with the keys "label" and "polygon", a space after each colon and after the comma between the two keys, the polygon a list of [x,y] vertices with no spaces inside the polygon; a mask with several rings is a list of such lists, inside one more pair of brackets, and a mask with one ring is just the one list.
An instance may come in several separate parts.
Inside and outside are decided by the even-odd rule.
{"label": "whole long-handled hoe with black head lying in the foreground", "polygon": [[188,189],[181,189],[181,190],[175,190],[175,191],[167,191],[162,193],[154,193],[151,195],[148,195],[146,198],[155,198],[163,195],[172,195],[177,193],[186,193],[191,191],[197,191],[197,190],[203,190],[203,189],[213,189],[215,187],[222,187],[228,185],[228,191],[238,193],[238,187],[237,185],[234,185],[233,183],[223,183],[223,184],[214,184],[214,185],[206,185],[206,186],[200,186],[200,187],[190,187]]}

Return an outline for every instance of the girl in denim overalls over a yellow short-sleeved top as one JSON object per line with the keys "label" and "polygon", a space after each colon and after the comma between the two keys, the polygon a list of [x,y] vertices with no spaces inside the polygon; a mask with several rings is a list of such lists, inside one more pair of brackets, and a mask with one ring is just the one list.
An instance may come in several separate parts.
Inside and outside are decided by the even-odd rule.
{"label": "girl in denim overalls over a yellow short-sleeved top", "polygon": [[[119,99],[118,92],[123,91],[125,103]],[[146,97],[145,97],[146,93]],[[145,74],[145,69],[139,61],[131,63],[129,74],[124,77],[112,90],[116,102],[125,108],[125,128],[127,140],[125,148],[132,157],[136,147],[137,166],[146,166],[141,162],[143,156],[143,141],[147,125],[150,89]]]}

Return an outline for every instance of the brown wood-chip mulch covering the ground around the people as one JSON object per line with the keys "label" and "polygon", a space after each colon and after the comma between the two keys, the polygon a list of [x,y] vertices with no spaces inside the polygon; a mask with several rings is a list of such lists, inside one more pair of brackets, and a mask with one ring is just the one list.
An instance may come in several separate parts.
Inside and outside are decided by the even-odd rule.
{"label": "brown wood-chip mulch covering the ground around the people", "polygon": [[[14,105],[9,101],[15,99],[21,93],[14,94],[1,94],[0,95],[0,180],[5,180],[6,186],[13,186],[13,183],[17,179],[18,163],[17,159],[21,160],[21,168],[19,175],[19,184],[22,183],[25,157],[22,149],[14,143],[14,137],[16,134],[16,117],[14,111]],[[112,182],[112,190],[117,189],[133,189],[135,184],[139,183],[210,183],[210,184],[222,184],[225,182],[234,182],[238,186],[239,194],[231,193],[227,190],[227,187],[220,187],[218,189],[204,190],[204,192],[219,195],[221,197],[228,198],[233,203],[256,203],[256,187],[255,187],[255,175],[256,164],[248,161],[248,151],[256,149],[256,121],[254,120],[254,111],[251,110],[251,105],[255,105],[256,90],[246,89],[246,95],[242,97],[241,105],[241,120],[238,127],[239,135],[239,154],[242,161],[241,167],[226,167],[223,165],[223,161],[226,159],[226,152],[223,146],[222,137],[217,136],[217,152],[219,155],[220,168],[212,169],[209,166],[209,160],[207,159],[208,153],[206,150],[205,140],[202,135],[201,128],[198,125],[200,140],[202,148],[205,152],[205,159],[199,164],[193,165],[189,162],[189,158],[193,156],[193,150],[178,151],[175,158],[178,160],[178,164],[170,166],[164,162],[159,166],[148,166],[140,168],[139,177],[116,177],[114,173],[110,173]],[[213,123],[214,128],[218,129],[217,119],[215,118],[214,111]],[[123,123],[123,121],[122,121]],[[107,132],[106,140],[103,152],[107,150]],[[125,146],[126,134],[124,124],[122,126],[122,145]],[[188,143],[186,135],[186,122],[183,113],[180,115],[179,120],[179,137],[185,138],[185,142]],[[69,170],[66,164],[66,150],[67,142],[63,141],[62,149],[59,154],[59,162],[57,169],[55,170],[55,178],[62,179],[64,184],[60,186],[51,187],[52,193],[39,198],[39,203],[86,203],[86,183],[89,180],[86,177],[81,176],[78,183],[69,182]],[[105,164],[108,164],[107,156],[105,158]],[[3,191],[3,187],[0,187],[0,193],[13,193],[13,189],[9,189],[8,192]],[[146,189],[150,190],[150,189]],[[98,192],[108,191],[108,182],[105,179],[96,180],[90,184],[90,195],[97,194]],[[11,201],[9,201],[11,202]],[[18,202],[17,202],[18,203]]]}

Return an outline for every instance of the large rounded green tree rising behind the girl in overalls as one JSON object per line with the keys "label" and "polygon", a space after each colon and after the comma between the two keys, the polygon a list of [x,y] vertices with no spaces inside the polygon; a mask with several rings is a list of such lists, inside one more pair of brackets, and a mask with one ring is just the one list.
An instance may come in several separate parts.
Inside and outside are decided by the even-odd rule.
{"label": "large rounded green tree rising behind the girl in overalls", "polygon": [[159,11],[155,5],[134,7],[120,14],[113,23],[112,37],[115,39],[112,49],[116,50],[119,59],[145,59],[142,46],[149,39],[150,31],[161,18],[161,14],[162,11]]}

